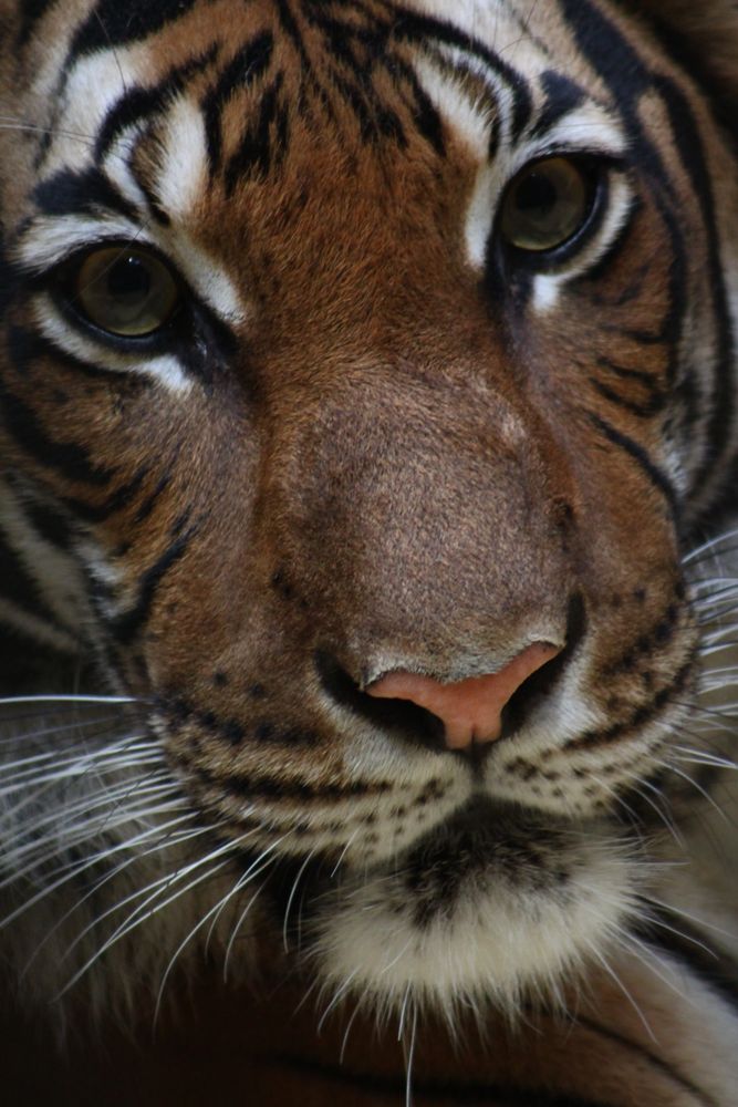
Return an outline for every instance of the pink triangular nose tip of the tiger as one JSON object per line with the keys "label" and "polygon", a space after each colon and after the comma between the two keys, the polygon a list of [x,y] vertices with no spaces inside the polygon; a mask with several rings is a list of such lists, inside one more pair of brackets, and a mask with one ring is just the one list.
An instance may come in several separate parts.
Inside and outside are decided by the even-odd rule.
{"label": "pink triangular nose tip of the tiger", "polygon": [[441,684],[432,676],[397,669],[366,689],[387,700],[412,700],[441,720],[449,749],[465,749],[472,742],[495,742],[502,730],[502,708],[537,669],[551,661],[560,648],[533,642],[497,673],[469,676]]}

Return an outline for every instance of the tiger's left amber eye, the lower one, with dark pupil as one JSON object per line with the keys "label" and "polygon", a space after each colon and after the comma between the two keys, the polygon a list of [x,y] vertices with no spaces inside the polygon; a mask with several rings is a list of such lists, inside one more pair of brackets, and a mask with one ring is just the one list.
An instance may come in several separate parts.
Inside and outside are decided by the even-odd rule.
{"label": "tiger's left amber eye, the lower one, with dark pupil", "polygon": [[73,284],[76,310],[101,330],[123,338],[153,334],[179,299],[167,267],[155,255],[128,246],[93,250],[77,267]]}

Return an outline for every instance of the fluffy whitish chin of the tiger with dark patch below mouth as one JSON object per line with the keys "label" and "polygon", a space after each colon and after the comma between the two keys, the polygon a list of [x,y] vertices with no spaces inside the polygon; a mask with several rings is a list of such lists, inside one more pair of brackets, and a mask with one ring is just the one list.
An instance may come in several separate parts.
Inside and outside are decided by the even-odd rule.
{"label": "fluffy whitish chin of the tiger with dark patch below mouth", "polygon": [[575,826],[472,800],[392,863],[319,898],[326,999],[381,1014],[514,1015],[563,1003],[585,963],[606,966],[637,911],[641,865],[612,826]]}

